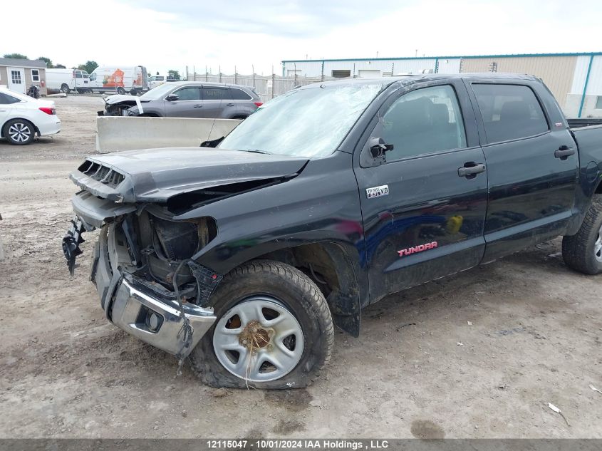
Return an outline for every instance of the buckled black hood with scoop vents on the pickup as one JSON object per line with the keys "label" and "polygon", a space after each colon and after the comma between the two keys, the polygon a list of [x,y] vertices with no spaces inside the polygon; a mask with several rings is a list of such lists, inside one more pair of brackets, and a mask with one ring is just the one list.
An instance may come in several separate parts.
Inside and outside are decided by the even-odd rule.
{"label": "buckled black hood with scoop vents on the pickup", "polygon": [[71,180],[117,202],[167,202],[183,193],[299,173],[308,160],[209,147],[130,150],[88,157]]}

